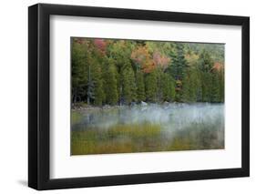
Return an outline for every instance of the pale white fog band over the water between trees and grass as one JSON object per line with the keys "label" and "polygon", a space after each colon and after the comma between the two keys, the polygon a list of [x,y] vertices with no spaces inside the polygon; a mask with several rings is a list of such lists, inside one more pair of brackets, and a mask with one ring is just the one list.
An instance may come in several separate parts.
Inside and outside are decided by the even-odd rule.
{"label": "pale white fog band over the water between trees and grass", "polygon": [[210,103],[148,105],[89,109],[82,112],[82,119],[73,130],[88,127],[108,129],[117,124],[160,124],[165,130],[187,128],[191,124],[219,124],[224,128],[224,105]]}

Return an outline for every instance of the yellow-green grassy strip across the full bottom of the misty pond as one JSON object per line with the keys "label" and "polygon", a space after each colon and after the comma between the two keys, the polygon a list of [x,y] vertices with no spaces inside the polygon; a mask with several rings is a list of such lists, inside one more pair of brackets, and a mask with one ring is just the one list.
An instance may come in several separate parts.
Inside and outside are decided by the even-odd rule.
{"label": "yellow-green grassy strip across the full bottom of the misty pond", "polygon": [[224,148],[221,131],[214,125],[193,124],[165,138],[159,124],[117,125],[100,130],[72,131],[71,154],[109,154]]}

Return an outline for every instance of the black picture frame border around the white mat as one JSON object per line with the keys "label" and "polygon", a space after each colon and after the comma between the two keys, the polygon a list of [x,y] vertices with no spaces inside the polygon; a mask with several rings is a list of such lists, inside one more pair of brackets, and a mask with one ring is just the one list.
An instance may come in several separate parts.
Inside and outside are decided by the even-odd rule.
{"label": "black picture frame border around the white mat", "polygon": [[[118,176],[50,179],[50,15],[73,15],[133,20],[241,26],[242,124],[241,168],[205,169]],[[28,186],[69,189],[179,180],[250,176],[250,18],[78,5],[37,4],[28,7]]]}

